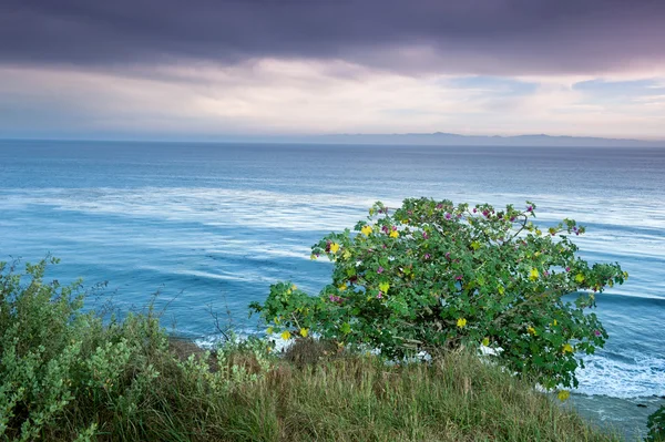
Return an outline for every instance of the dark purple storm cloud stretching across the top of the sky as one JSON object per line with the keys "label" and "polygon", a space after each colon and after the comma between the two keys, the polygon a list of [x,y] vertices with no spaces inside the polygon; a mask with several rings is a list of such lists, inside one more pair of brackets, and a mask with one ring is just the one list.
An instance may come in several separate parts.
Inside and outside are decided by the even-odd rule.
{"label": "dark purple storm cloud stretching across the top of the sky", "polygon": [[622,70],[665,60],[665,1],[0,0],[3,63],[262,56],[457,73]]}

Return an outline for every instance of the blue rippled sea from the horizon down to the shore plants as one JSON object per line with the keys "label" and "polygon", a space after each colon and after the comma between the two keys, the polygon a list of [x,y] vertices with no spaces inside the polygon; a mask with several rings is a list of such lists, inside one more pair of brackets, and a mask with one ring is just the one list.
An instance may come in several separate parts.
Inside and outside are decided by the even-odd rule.
{"label": "blue rippled sea from the horizon down to the shore plants", "polygon": [[665,148],[0,142],[0,259],[52,253],[50,276],[108,281],[125,310],[160,291],[165,325],[205,340],[209,307],[250,329],[273,281],[326,284],[330,265],[309,260],[323,235],[411,196],[531,199],[544,225],[584,224],[582,256],[631,278],[598,299],[611,339],[573,404],[644,425],[665,395]]}

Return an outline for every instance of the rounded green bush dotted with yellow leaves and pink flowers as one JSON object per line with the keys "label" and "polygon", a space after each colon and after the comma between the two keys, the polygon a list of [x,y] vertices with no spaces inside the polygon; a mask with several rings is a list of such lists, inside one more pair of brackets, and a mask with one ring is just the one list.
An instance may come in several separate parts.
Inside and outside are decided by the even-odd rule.
{"label": "rounded green bush dotted with yellow leaves and pink flowers", "polygon": [[627,274],[618,264],[590,266],[571,240],[584,227],[564,219],[539,228],[535,205],[526,204],[498,209],[412,198],[393,210],[376,203],[355,232],[313,247],[313,259],[335,265],[319,296],[278,282],[250,309],[287,339],[311,330],[390,358],[482,345],[546,388],[576,386],[580,354],[607,338],[589,309]]}

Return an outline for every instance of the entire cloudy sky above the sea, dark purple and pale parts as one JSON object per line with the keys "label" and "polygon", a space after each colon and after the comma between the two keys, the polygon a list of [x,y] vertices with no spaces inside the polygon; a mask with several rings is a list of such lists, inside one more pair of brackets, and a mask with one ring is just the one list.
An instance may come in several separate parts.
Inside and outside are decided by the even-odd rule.
{"label": "entire cloudy sky above the sea, dark purple and pale parts", "polygon": [[0,0],[0,137],[665,140],[664,0]]}

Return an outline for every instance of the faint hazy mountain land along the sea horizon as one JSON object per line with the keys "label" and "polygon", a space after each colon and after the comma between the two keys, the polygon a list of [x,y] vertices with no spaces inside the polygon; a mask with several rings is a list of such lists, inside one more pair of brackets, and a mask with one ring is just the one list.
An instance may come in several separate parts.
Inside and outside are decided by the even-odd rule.
{"label": "faint hazy mountain land along the sea horizon", "polygon": [[255,143],[320,143],[320,144],[379,144],[431,146],[531,146],[531,147],[665,147],[665,141],[602,138],[593,136],[552,135],[460,135],[436,132],[431,134],[338,134],[307,136],[238,136],[229,141]]}

